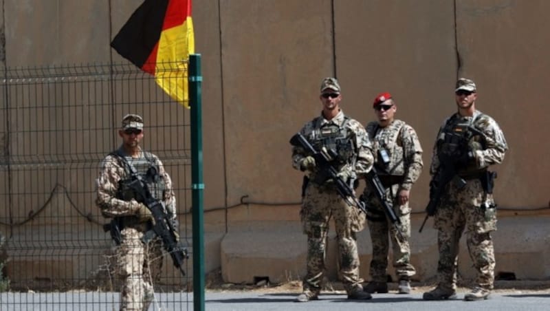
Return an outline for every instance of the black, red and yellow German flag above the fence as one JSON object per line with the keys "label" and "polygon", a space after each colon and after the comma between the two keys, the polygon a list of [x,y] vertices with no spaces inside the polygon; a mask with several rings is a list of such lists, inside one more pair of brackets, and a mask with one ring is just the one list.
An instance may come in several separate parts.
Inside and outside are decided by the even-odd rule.
{"label": "black, red and yellow German flag above the fence", "polygon": [[195,53],[191,0],[145,0],[111,42],[111,47],[184,107],[189,107],[187,69]]}

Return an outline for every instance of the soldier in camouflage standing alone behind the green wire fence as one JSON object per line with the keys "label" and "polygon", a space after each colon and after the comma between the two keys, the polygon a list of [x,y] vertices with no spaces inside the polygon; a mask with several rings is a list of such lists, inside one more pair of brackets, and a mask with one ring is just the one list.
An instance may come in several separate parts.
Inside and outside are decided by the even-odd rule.
{"label": "soldier in camouflage standing alone behind the green wire fence", "polygon": [[158,237],[147,243],[142,241],[144,233],[151,229],[153,216],[144,204],[134,198],[128,200],[127,195],[120,192],[120,184],[129,180],[133,173],[146,178],[156,170],[157,173],[153,173],[156,177],[148,179],[151,180],[148,188],[156,199],[164,202],[166,213],[173,219],[175,196],[162,162],[140,147],[144,136],[142,117],[124,116],[118,134],[122,145],[101,163],[96,180],[96,204],[104,217],[117,221],[120,229],[117,248],[117,267],[122,279],[120,310],[147,310],[154,297],[153,284],[159,279],[162,268],[162,242]]}

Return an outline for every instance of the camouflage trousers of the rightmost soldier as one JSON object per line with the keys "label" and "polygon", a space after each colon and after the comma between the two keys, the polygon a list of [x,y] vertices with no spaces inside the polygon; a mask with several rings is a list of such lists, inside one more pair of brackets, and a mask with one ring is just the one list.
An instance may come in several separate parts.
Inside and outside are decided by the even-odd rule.
{"label": "camouflage trousers of the rightmost soldier", "polygon": [[456,289],[459,240],[465,230],[466,245],[476,269],[476,285],[492,289],[494,286],[494,246],[491,232],[496,230],[496,209],[485,208],[483,203],[494,204],[492,195],[483,191],[479,180],[467,180],[465,186],[449,186],[447,195],[434,215],[437,229],[439,285]]}

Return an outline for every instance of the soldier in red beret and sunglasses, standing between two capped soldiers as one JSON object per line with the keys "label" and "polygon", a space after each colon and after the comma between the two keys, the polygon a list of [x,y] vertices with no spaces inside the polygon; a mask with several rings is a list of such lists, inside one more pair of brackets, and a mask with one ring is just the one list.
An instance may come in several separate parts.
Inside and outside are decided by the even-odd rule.
{"label": "soldier in red beret and sunglasses, standing between two capped soldiers", "polygon": [[373,142],[377,175],[386,188],[388,203],[401,221],[397,228],[391,226],[384,208],[373,189],[367,186],[363,197],[366,202],[373,259],[371,260],[371,282],[364,286],[366,292],[388,292],[386,268],[388,266],[388,233],[393,246],[393,266],[399,279],[399,294],[410,292],[410,277],[415,267],[410,264],[410,210],[408,205],[410,189],[422,171],[422,148],[417,133],[410,125],[394,118],[397,106],[389,93],[376,96],[373,107],[378,121],[370,122],[366,132]]}

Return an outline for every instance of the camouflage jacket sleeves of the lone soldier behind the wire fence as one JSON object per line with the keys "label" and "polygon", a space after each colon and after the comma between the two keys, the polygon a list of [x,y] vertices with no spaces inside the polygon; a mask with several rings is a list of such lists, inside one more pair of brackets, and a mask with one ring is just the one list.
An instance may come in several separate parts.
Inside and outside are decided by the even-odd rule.
{"label": "camouflage jacket sleeves of the lone soldier behind the wire fence", "polygon": [[[166,207],[166,212],[170,217],[176,216],[176,200],[172,186],[172,180],[166,173],[164,165],[159,158],[153,153],[148,153],[153,162],[159,167],[160,178],[164,181],[165,190],[162,194],[162,201]],[[140,153],[140,156],[144,156],[144,152]],[[116,197],[118,191],[118,182],[127,178],[128,172],[124,169],[124,165],[117,156],[109,154],[106,156],[100,167],[100,173],[96,179],[97,198],[96,205],[101,209],[101,213],[104,217],[120,217],[135,215],[139,204],[135,200],[124,201]]]}

